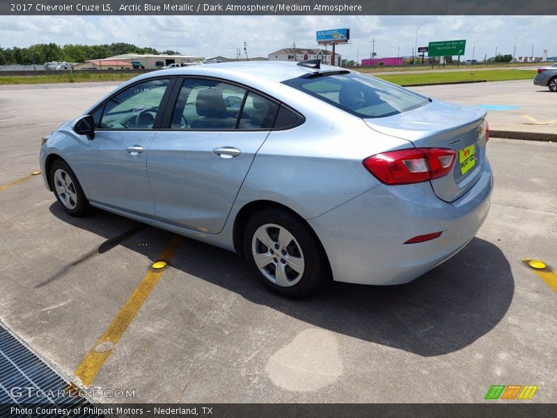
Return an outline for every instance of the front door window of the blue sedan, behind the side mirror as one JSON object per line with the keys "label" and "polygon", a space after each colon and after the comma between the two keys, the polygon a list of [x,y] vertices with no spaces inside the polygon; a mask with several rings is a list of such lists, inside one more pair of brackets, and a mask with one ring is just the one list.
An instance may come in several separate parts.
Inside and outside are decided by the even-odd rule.
{"label": "front door window of the blue sedan, behind the side mirror", "polygon": [[168,79],[150,80],[118,93],[104,104],[101,129],[152,129]]}

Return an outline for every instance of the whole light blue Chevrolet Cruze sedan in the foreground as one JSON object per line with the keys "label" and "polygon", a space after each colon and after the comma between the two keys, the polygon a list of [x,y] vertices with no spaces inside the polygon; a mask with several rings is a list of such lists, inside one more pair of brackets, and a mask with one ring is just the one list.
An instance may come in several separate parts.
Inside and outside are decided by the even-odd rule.
{"label": "whole light blue Chevrolet Cruze sedan in the foreground", "polygon": [[334,279],[407,283],[460,251],[489,210],[485,111],[342,68],[149,72],[44,137],[47,187],[242,254],[301,297]]}

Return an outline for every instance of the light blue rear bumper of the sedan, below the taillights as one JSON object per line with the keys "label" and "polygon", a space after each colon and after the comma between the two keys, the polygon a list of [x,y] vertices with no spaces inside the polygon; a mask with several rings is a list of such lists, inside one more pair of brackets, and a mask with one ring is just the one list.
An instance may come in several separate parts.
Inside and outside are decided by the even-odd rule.
{"label": "light blue rear bumper of the sedan, below the taillights", "polygon": [[[336,281],[392,285],[414,280],[462,249],[478,232],[493,188],[487,159],[480,179],[452,203],[430,183],[379,185],[308,222],[324,246]],[[405,245],[417,235],[431,241]]]}

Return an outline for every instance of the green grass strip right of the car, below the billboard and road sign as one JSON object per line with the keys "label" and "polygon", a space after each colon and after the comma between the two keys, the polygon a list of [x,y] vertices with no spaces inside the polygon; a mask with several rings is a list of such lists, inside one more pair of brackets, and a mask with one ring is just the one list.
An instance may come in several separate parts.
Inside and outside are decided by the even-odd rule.
{"label": "green grass strip right of the car, below the billboard and road sign", "polygon": [[503,82],[508,80],[525,80],[535,77],[535,70],[481,70],[451,72],[419,72],[415,74],[375,74],[375,77],[387,82],[408,86],[412,84],[444,84],[450,82]]}

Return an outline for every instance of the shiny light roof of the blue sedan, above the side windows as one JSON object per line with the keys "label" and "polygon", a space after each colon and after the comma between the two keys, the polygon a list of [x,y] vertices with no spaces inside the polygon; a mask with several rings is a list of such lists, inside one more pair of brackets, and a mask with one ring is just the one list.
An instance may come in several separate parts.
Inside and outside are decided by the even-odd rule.
{"label": "shiny light roof of the blue sedan, above the side windows", "polygon": [[[212,75],[224,77],[230,75],[243,75],[259,77],[272,82],[283,82],[288,79],[301,77],[312,72],[338,71],[342,68],[331,65],[321,65],[320,69],[310,68],[291,61],[242,61],[228,63],[214,63],[201,65],[188,65],[182,68],[168,68],[168,70],[157,71],[157,75]],[[150,75],[153,75],[151,72]]]}

